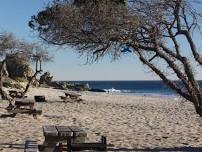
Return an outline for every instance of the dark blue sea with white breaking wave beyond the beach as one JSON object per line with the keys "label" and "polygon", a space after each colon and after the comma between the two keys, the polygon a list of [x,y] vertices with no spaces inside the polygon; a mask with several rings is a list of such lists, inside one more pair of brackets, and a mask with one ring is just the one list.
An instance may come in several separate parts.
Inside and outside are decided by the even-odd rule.
{"label": "dark blue sea with white breaking wave beyond the beach", "polygon": [[[69,82],[69,81],[68,81]],[[162,81],[70,81],[72,83],[86,84],[90,88],[103,89],[113,93],[130,95],[165,96],[173,97],[176,93],[169,89]],[[199,81],[202,87],[202,81]]]}

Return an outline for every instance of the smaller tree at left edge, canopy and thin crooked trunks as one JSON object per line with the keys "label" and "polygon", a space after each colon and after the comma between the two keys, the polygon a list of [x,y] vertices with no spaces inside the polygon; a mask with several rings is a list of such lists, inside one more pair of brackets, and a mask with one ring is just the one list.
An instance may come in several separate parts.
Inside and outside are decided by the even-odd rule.
{"label": "smaller tree at left edge, canopy and thin crooked trunks", "polygon": [[[1,66],[0,66],[0,94],[4,99],[12,101],[12,97],[4,90],[3,82],[6,77],[8,77],[8,71],[6,63],[9,62],[7,60],[8,56],[12,56],[16,58],[16,60],[26,61],[26,62],[40,62],[41,61],[50,61],[51,57],[40,47],[39,45],[27,43],[24,41],[20,41],[14,37],[12,33],[1,33],[0,34],[0,59],[1,59]],[[36,78],[37,74],[41,72],[41,68],[38,70],[36,69],[35,73],[29,81],[23,91],[22,96],[24,96],[32,81]]]}

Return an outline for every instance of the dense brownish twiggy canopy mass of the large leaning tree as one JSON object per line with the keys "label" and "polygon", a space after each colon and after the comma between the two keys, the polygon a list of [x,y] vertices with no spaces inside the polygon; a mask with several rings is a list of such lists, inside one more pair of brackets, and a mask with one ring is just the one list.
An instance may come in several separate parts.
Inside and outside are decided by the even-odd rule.
{"label": "dense brownish twiggy canopy mass of the large leaning tree", "polygon": [[120,45],[119,40],[127,30],[137,26],[136,15],[127,12],[125,5],[117,1],[86,0],[79,6],[69,1],[55,1],[33,16],[29,25],[52,44],[76,46],[78,50],[86,50],[88,55],[94,49],[102,54],[110,47]]}

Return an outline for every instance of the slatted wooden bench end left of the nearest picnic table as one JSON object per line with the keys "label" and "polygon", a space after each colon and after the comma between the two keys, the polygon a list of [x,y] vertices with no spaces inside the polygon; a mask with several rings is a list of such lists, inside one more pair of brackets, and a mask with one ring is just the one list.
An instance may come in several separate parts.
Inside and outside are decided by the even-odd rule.
{"label": "slatted wooden bench end left of the nearest picnic table", "polygon": [[26,140],[24,152],[39,152],[37,141]]}

